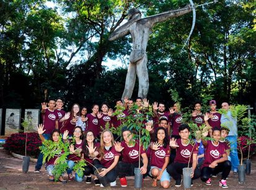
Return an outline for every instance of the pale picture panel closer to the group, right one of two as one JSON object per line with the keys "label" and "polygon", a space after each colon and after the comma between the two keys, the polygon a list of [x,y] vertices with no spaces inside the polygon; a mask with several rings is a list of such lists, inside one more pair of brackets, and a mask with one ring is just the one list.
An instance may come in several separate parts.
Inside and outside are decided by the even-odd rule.
{"label": "pale picture panel closer to the group, right one of two", "polygon": [[39,110],[38,109],[25,109],[24,120],[28,122],[27,130],[24,132],[37,132],[37,126],[39,124]]}

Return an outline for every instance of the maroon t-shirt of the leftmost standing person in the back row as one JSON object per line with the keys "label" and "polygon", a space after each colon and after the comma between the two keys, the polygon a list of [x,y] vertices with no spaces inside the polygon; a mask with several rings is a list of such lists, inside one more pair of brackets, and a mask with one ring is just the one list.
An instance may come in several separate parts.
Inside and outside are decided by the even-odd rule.
{"label": "maroon t-shirt of the leftmost standing person in the back row", "polygon": [[51,134],[51,131],[55,129],[55,121],[58,120],[58,113],[56,110],[51,111],[48,108],[45,110],[43,116],[43,129],[45,129],[45,134]]}

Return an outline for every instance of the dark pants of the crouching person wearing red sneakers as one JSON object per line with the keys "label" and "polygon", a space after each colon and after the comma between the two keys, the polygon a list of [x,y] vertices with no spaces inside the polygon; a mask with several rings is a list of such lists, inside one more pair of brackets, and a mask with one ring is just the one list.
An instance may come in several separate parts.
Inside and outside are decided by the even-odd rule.
{"label": "dark pants of the crouching person wearing red sneakers", "polygon": [[[143,163],[141,162],[141,166]],[[135,175],[135,168],[139,168],[139,162],[136,163],[125,163],[125,162],[118,162],[117,171],[119,178],[124,178],[125,176],[134,176]],[[150,171],[150,166],[148,165],[147,172],[143,175],[145,178]]]}

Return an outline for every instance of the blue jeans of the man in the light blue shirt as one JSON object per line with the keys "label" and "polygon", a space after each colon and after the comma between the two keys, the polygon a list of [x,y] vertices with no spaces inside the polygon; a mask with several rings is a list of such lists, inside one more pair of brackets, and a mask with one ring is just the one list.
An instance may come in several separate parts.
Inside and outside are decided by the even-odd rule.
{"label": "blue jeans of the man in the light blue shirt", "polygon": [[230,158],[231,158],[231,170],[237,171],[239,165],[239,158],[237,154],[237,136],[227,136],[226,139],[230,142]]}

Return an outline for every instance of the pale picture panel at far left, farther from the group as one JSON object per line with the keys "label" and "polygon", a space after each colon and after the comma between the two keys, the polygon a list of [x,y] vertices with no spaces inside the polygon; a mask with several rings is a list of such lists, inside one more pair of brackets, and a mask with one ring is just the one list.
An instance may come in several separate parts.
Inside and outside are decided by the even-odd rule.
{"label": "pale picture panel at far left, farther from the group", "polygon": [[11,136],[11,134],[19,132],[20,129],[20,109],[6,109],[5,120],[5,136]]}

